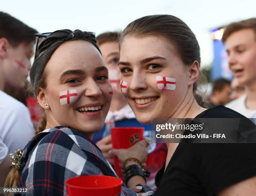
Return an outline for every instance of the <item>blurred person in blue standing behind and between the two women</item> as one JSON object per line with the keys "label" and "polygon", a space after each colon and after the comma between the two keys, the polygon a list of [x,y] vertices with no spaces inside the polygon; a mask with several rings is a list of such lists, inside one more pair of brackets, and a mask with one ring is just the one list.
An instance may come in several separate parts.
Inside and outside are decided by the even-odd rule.
{"label": "blurred person in blue standing behind and between the two women", "polygon": [[[121,72],[118,68],[119,40],[120,33],[105,32],[97,36],[97,45],[100,48],[105,65],[109,72],[109,82],[113,89],[113,97],[108,112],[105,126],[98,133],[94,134],[93,141],[101,149],[104,156],[113,165],[112,141],[110,135],[111,127],[144,127],[144,137],[151,136],[151,124],[141,124],[137,121],[131,107],[128,105],[120,89]],[[167,155],[165,143],[151,143],[148,150],[146,169],[151,171],[147,184],[151,188],[156,188],[155,176],[164,164]],[[156,161],[157,160],[157,161]]]}

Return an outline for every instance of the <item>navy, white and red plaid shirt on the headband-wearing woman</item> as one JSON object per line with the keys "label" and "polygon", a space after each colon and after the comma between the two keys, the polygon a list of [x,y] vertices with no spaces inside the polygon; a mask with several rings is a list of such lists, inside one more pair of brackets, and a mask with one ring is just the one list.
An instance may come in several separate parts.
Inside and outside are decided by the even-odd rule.
{"label": "navy, white and red plaid shirt on the headband-wearing woman", "polygon": [[[66,196],[65,181],[76,176],[117,177],[100,149],[84,133],[59,126],[38,133],[24,148],[18,187],[35,196]],[[20,194],[15,194],[20,195]],[[136,196],[122,186],[121,196]]]}

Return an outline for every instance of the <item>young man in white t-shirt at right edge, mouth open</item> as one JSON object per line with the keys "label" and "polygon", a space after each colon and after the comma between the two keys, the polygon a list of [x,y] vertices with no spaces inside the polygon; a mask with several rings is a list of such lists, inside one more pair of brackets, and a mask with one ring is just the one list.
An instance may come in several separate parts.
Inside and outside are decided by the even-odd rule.
{"label": "young man in white t-shirt at right edge, mouth open", "polygon": [[229,68],[246,90],[226,107],[251,118],[256,113],[256,18],[228,25],[222,41],[229,56]]}

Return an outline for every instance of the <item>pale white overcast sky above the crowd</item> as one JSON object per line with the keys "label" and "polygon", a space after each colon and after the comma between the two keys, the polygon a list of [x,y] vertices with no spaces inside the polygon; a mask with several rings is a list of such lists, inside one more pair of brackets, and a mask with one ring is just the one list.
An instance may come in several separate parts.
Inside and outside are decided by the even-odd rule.
{"label": "pale white overcast sky above the crowd", "polygon": [[170,14],[182,19],[197,36],[202,66],[211,65],[211,29],[256,17],[255,0],[0,0],[0,11],[40,33],[59,29],[95,32],[123,30],[145,15]]}

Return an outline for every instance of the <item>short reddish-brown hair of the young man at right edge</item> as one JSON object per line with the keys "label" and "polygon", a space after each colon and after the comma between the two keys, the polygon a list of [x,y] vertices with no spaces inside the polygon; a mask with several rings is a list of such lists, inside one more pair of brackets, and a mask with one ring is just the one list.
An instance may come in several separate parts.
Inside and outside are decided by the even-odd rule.
{"label": "short reddish-brown hair of the young man at right edge", "polygon": [[230,23],[228,26],[226,26],[222,36],[223,43],[226,42],[226,40],[232,33],[242,29],[252,29],[256,35],[256,18],[241,20],[239,22]]}

